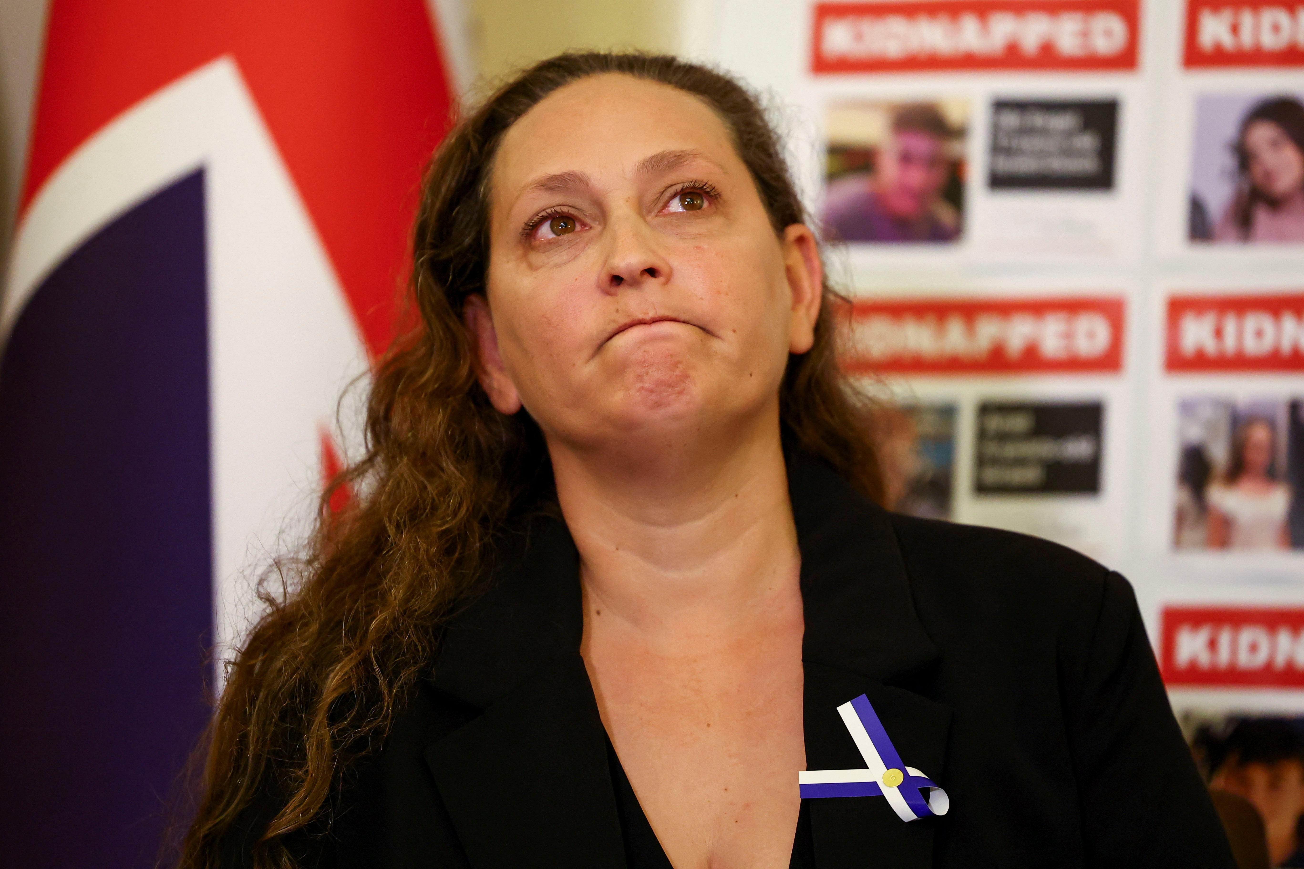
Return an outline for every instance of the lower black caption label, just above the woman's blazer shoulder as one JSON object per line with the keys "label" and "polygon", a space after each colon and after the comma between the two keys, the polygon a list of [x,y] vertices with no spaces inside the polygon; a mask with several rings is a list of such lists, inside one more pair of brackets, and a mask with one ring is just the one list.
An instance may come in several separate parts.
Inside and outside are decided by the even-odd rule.
{"label": "lower black caption label, just above the woman's blazer shoulder", "polygon": [[1099,401],[985,401],[978,408],[974,491],[1099,492],[1102,416]]}

